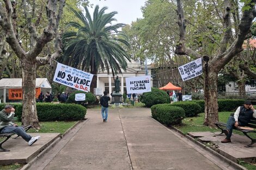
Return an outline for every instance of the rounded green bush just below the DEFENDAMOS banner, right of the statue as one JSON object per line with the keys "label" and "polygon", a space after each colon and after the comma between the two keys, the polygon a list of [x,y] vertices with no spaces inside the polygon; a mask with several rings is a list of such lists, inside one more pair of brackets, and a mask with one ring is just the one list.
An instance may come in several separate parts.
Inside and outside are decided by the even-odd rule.
{"label": "rounded green bush just below the DEFENDAMOS banner, right of the statue", "polygon": [[155,104],[170,103],[170,97],[163,90],[151,88],[151,92],[143,93],[140,101],[145,104],[147,108]]}

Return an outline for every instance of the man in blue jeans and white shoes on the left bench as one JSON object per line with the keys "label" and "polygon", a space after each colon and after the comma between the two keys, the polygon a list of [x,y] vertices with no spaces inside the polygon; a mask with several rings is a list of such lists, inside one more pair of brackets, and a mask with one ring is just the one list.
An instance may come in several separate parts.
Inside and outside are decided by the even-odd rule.
{"label": "man in blue jeans and white shoes on the left bench", "polygon": [[17,124],[11,122],[15,113],[13,105],[7,104],[4,109],[0,111],[0,134],[1,133],[15,133],[21,136],[25,141],[28,142],[28,145],[31,146],[40,136],[32,137],[28,135],[24,128],[18,127]]}

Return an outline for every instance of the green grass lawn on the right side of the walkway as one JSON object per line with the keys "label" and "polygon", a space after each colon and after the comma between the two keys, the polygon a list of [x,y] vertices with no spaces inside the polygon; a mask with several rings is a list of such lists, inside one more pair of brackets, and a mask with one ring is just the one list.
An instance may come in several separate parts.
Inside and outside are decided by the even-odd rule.
{"label": "green grass lawn on the right side of the walkway", "polygon": [[[219,115],[218,115],[219,121],[226,123],[231,113],[232,112],[219,112]],[[205,125],[203,125],[203,123],[204,123],[204,113],[199,114],[197,117],[184,118],[182,120],[182,125],[175,125],[174,127],[182,131],[183,134],[187,134],[188,132],[196,132],[196,131],[221,132],[220,129],[206,127]],[[243,135],[240,131],[237,131],[237,130],[234,130],[233,133]],[[256,138],[255,133],[252,133],[250,135]],[[239,162],[239,164],[243,167],[246,167],[247,169],[256,170],[255,165],[250,165],[243,161]]]}

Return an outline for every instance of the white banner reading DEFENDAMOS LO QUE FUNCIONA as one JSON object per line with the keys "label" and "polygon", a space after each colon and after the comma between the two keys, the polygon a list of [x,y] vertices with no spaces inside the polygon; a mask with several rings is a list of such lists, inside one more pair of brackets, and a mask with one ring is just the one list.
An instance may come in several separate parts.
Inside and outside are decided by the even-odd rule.
{"label": "white banner reading DEFENDAMOS LO QUE FUNCIONA", "polygon": [[151,75],[125,78],[127,94],[150,92],[151,91],[150,79],[151,79]]}

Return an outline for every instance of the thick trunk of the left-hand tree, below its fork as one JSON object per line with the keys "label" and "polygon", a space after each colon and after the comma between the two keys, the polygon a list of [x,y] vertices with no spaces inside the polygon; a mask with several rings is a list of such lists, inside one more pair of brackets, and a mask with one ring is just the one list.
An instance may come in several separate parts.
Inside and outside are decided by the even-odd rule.
{"label": "thick trunk of the left-hand tree, below its fork", "polygon": [[35,101],[36,67],[35,61],[22,62],[22,124],[31,124],[40,129]]}

